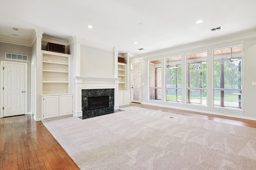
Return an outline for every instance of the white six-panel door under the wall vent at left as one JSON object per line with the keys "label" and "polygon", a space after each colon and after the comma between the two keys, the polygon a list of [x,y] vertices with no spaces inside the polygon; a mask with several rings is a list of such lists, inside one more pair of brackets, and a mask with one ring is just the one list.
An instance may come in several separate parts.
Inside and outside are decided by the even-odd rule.
{"label": "white six-panel door under the wall vent at left", "polygon": [[25,114],[25,64],[3,63],[3,116]]}

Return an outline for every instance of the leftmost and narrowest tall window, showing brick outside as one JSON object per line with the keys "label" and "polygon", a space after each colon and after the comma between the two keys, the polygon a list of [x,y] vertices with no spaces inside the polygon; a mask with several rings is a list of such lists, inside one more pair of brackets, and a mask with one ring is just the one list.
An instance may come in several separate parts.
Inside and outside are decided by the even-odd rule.
{"label": "leftmost and narrowest tall window, showing brick outside", "polygon": [[150,75],[149,75],[149,100],[162,99],[162,60],[150,61]]}

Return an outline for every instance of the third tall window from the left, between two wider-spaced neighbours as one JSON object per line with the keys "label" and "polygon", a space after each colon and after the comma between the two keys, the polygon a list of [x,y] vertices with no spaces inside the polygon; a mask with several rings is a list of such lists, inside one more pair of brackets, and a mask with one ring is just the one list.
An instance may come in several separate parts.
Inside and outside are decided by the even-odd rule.
{"label": "third tall window from the left, between two wider-spaced neighbours", "polygon": [[187,57],[187,103],[207,105],[206,61],[207,51],[186,55]]}

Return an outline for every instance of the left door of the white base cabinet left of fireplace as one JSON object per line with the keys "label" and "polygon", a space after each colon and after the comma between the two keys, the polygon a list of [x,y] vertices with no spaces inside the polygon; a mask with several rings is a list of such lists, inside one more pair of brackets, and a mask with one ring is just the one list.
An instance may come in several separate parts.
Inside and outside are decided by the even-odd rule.
{"label": "left door of the white base cabinet left of fireplace", "polygon": [[59,96],[44,96],[43,119],[59,116]]}

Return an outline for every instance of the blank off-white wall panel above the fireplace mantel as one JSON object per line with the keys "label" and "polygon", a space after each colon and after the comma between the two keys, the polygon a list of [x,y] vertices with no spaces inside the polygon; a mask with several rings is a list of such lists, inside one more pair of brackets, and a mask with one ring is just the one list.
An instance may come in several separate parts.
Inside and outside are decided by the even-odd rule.
{"label": "blank off-white wall panel above the fireplace mantel", "polygon": [[81,76],[114,78],[114,51],[81,45]]}

